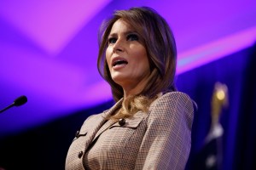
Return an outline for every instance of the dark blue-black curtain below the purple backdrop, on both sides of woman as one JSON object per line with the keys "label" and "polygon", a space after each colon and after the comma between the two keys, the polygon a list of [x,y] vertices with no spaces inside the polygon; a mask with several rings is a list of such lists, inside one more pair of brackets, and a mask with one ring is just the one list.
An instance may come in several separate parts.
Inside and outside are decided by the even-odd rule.
{"label": "dark blue-black curtain below the purple backdrop, on both sides of woman", "polygon": [[[229,107],[222,111],[222,169],[256,169],[255,46],[185,72],[177,77],[177,88],[198,105],[192,129],[192,148],[186,169],[195,169],[198,153],[211,124],[211,99],[215,82],[229,88]],[[84,119],[104,111],[113,101],[90,110],[0,139],[0,167],[6,170],[63,170],[69,144]],[[214,148],[213,148],[214,150]]]}

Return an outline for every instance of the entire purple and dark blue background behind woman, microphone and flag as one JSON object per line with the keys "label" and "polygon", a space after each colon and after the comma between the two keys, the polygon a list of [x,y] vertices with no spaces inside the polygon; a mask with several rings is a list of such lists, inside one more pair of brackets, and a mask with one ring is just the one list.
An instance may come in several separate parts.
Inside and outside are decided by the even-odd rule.
{"label": "entire purple and dark blue background behind woman, microphone and flag", "polygon": [[154,8],[171,26],[177,88],[198,105],[186,168],[209,161],[201,150],[214,85],[222,82],[229,106],[212,153],[220,169],[256,169],[255,0],[0,0],[0,109],[20,95],[28,100],[0,114],[0,167],[64,169],[84,119],[113,105],[96,69],[98,28],[114,10],[138,6]]}

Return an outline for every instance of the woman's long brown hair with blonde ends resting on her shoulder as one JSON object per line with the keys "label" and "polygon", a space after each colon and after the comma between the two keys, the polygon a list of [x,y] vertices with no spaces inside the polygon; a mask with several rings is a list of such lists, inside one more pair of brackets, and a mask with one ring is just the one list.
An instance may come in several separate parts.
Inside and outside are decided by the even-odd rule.
{"label": "woman's long brown hair with blonde ends resting on her shoulder", "polygon": [[[172,30],[166,20],[153,8],[141,7],[128,10],[118,10],[113,18],[103,22],[99,31],[99,54],[97,60],[98,71],[111,86],[113,99],[123,98],[124,91],[119,84],[113,82],[106,61],[106,48],[108,48],[108,35],[117,20],[124,20],[137,30],[142,37],[143,46],[147,50],[150,65],[150,76],[147,86],[140,94],[123,101],[119,113],[120,117],[131,116],[137,111],[148,111],[148,106],[159,93],[175,91],[175,73],[177,65],[176,42]],[[119,115],[118,114],[118,115]]]}

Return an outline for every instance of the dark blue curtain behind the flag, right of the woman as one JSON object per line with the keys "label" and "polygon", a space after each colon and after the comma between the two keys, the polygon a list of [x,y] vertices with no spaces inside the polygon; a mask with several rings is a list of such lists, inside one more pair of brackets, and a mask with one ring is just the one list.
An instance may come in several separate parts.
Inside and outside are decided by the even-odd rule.
{"label": "dark blue curtain behind the flag, right of the woman", "polygon": [[[254,45],[177,78],[178,87],[190,94],[198,105],[187,170],[256,169],[255,49]],[[220,117],[224,128],[221,140],[218,139],[222,143],[222,164],[219,168],[206,168],[203,165],[206,163],[205,157],[201,156],[207,156],[207,151],[211,154],[217,150],[216,144],[204,144],[211,125],[211,99],[215,82],[228,86],[230,101]]]}

